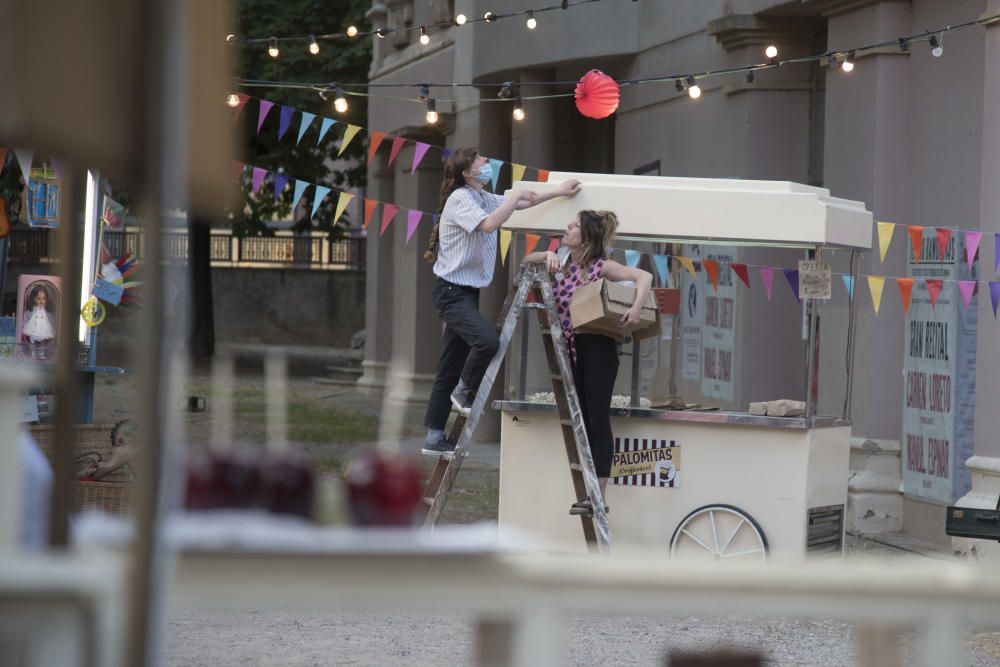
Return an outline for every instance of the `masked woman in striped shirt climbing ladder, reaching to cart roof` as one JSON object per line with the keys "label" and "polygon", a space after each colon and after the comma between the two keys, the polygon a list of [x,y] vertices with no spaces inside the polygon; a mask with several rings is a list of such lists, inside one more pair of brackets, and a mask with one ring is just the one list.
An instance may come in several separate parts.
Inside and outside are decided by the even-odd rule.
{"label": "masked woman in striped shirt climbing ladder, reaching to cart roof", "polygon": [[497,351],[493,325],[479,313],[479,290],[493,281],[497,261],[497,230],[515,210],[530,208],[554,197],[579,192],[580,182],[566,181],[554,192],[521,191],[507,196],[484,191],[493,181],[489,160],[474,148],[459,148],[444,165],[441,218],[431,230],[424,258],[434,261],[434,310],[445,323],[441,359],[431,389],[424,423],[424,454],[445,455],[455,450],[444,427],[452,406],[468,415]]}

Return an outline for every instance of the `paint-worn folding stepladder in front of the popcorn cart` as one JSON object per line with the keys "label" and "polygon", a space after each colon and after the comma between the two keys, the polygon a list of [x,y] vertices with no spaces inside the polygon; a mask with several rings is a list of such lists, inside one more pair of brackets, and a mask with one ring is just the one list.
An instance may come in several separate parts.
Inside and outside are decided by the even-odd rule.
{"label": "paint-worn folding stepladder in front of the popcorn cart", "polygon": [[[529,294],[533,297],[531,302],[528,301]],[[562,427],[563,443],[566,446],[566,457],[569,460],[576,499],[578,502],[588,498],[592,499],[593,511],[580,512],[575,510],[571,511],[571,514],[580,517],[587,545],[591,549],[608,551],[611,548],[608,517],[604,511],[604,499],[598,485],[597,472],[594,470],[594,461],[590,455],[590,444],[587,441],[587,431],[583,424],[580,401],[576,395],[576,385],[573,383],[569,353],[566,350],[562,327],[556,312],[552,282],[544,267],[534,264],[522,267],[514,282],[513,289],[507,294],[497,322],[499,346],[496,355],[486,369],[482,383],[479,385],[469,415],[455,415],[451,428],[448,430],[448,439],[456,443],[455,451],[450,456],[442,456],[438,459],[427,482],[423,499],[423,506],[426,508],[424,526],[433,528],[441,518],[441,512],[444,511],[444,505],[448,500],[448,494],[451,492],[455,477],[462,467],[462,461],[468,456],[472,435],[476,431],[483,410],[486,409],[490,390],[496,382],[500,364],[507,354],[507,348],[510,346],[510,340],[514,335],[521,311],[526,309],[534,310],[538,315],[538,324],[545,344],[545,358],[549,364],[549,375],[552,378],[552,388],[556,397],[559,423]]]}

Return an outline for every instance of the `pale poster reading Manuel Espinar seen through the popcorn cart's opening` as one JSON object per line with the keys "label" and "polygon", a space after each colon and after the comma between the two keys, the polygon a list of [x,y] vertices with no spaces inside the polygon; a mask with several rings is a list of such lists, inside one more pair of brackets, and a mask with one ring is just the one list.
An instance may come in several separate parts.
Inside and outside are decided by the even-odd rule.
{"label": "pale poster reading Manuel Espinar seen through the popcorn cart's opening", "polygon": [[719,263],[716,289],[706,272],[701,273],[704,294],[702,324],[701,393],[708,398],[733,400],[733,351],[735,349],[736,287],[733,285],[735,248],[707,246],[704,259]]}

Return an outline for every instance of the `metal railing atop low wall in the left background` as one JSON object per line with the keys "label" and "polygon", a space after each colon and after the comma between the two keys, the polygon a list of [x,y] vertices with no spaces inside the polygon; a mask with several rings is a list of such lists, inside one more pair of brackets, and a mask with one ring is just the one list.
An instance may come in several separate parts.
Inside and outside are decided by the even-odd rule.
{"label": "metal railing atop low wall in the left background", "polygon": [[[52,261],[52,237],[48,229],[16,229],[8,240],[8,261],[12,263],[44,264]],[[143,232],[139,230],[105,231],[104,245],[113,257],[132,255],[139,261],[145,258]],[[331,241],[325,234],[279,231],[274,236],[241,238],[229,230],[213,230],[209,253],[214,267],[354,271],[365,268],[365,239],[354,235]],[[187,261],[186,230],[163,232],[163,257],[168,262]]]}

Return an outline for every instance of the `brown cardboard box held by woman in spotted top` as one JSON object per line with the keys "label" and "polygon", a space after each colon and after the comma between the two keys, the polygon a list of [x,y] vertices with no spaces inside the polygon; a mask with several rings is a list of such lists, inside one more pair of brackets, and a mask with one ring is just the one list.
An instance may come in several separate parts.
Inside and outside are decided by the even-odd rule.
{"label": "brown cardboard box held by woman in spotted top", "polygon": [[573,328],[580,333],[599,333],[616,340],[631,334],[641,340],[660,332],[660,313],[652,292],[642,306],[640,319],[627,328],[621,318],[635,301],[635,288],[600,279],[580,287],[569,304]]}

